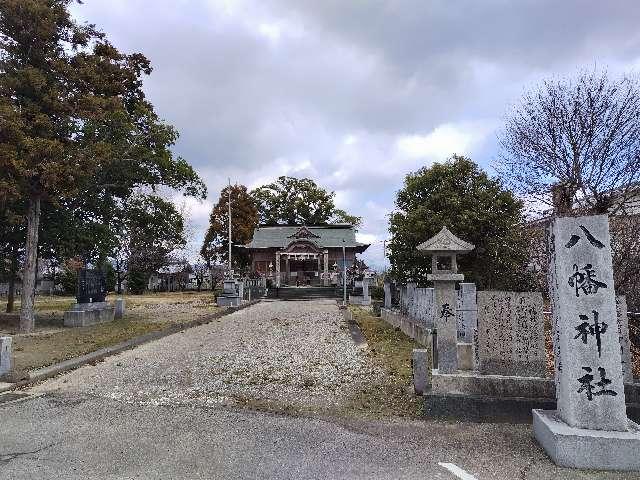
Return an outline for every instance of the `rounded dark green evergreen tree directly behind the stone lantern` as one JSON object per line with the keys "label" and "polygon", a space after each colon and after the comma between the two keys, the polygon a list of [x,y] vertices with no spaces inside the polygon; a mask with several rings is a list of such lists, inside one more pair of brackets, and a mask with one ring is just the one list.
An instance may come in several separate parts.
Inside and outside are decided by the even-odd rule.
{"label": "rounded dark green evergreen tree directly behind the stone lantern", "polygon": [[470,159],[454,155],[407,175],[396,208],[389,258],[398,280],[426,283],[431,258],[416,247],[446,226],[476,246],[459,258],[467,281],[481,289],[530,288],[522,202]]}

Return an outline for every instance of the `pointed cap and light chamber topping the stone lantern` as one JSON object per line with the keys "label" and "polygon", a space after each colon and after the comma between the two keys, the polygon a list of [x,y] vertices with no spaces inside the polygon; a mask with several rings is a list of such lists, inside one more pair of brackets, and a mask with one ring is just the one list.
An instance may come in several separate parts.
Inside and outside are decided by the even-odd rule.
{"label": "pointed cap and light chamber topping the stone lantern", "polygon": [[475,245],[456,237],[447,227],[418,245],[417,249],[431,255],[431,274],[428,280],[462,281],[464,276],[458,273],[457,256],[472,251]]}

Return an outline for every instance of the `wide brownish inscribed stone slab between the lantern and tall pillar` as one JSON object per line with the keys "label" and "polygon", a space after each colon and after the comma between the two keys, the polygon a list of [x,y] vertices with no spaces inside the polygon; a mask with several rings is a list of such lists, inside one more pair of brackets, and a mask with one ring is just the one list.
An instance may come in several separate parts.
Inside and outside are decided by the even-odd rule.
{"label": "wide brownish inscribed stone slab between the lantern and tall pillar", "polygon": [[540,292],[478,292],[478,370],[484,375],[545,377]]}

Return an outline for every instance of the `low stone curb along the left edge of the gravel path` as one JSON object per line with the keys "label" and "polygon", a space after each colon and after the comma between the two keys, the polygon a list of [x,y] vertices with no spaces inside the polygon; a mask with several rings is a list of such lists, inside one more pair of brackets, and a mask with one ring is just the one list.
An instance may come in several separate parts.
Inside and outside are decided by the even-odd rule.
{"label": "low stone curb along the left edge of the gravel path", "polygon": [[261,299],[253,300],[244,305],[240,305],[238,307],[228,307],[226,310],[221,312],[216,312],[211,314],[208,317],[205,317],[204,320],[193,320],[191,322],[185,323],[183,325],[176,325],[173,327],[169,327],[166,330],[160,330],[157,332],[151,332],[144,335],[140,335],[139,337],[131,338],[117,345],[113,345],[111,347],[102,348],[100,350],[96,350],[95,352],[87,353],[85,355],[81,355],[79,357],[70,358],[69,360],[65,360],[60,363],[56,363],[55,365],[50,365],[48,367],[38,368],[36,370],[29,371],[29,378],[26,380],[22,380],[16,383],[9,383],[5,386],[0,386],[0,393],[7,392],[10,390],[16,390],[18,388],[26,387],[36,382],[40,382],[42,380],[46,380],[47,378],[55,377],[60,373],[68,372],[69,370],[75,370],[78,367],[82,367],[83,365],[87,365],[89,363],[99,362],[104,360],[107,357],[112,355],[116,355],[118,353],[124,352],[125,350],[130,350],[132,348],[138,347],[144,343],[151,342],[153,340],[158,340],[163,337],[167,337],[169,335],[173,335],[174,333],[183,332],[189,328],[198,327],[200,325],[206,325],[211,323],[213,320],[217,320],[226,315],[230,315],[238,310],[242,310],[244,308],[250,307],[259,303]]}

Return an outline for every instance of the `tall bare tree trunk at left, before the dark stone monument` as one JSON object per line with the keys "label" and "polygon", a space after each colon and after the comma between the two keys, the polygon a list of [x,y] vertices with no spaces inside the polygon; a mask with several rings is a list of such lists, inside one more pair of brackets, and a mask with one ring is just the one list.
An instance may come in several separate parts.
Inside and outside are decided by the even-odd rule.
{"label": "tall bare tree trunk at left, before the dark stone monument", "polygon": [[35,324],[36,276],[38,266],[38,227],[40,226],[40,197],[29,199],[27,210],[27,244],[22,273],[22,301],[20,308],[21,333],[33,330]]}

